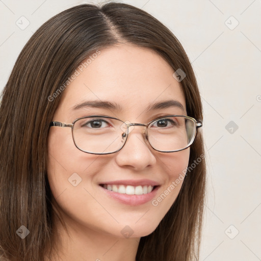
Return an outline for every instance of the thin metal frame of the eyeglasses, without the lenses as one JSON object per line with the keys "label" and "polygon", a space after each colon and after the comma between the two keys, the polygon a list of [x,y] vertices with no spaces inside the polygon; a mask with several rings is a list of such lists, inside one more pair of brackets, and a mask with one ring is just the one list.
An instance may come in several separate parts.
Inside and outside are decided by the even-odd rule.
{"label": "thin metal frame of the eyeglasses, without the lenses", "polygon": [[[119,121],[121,121],[122,123],[124,123],[124,124],[127,126],[126,139],[125,139],[125,142],[123,143],[123,145],[122,145],[121,148],[119,148],[118,150],[113,151],[113,152],[95,153],[95,152],[85,151],[85,150],[79,148],[79,147],[76,145],[76,143],[75,143],[75,141],[74,141],[74,138],[73,138],[73,126],[74,126],[74,123],[75,123],[76,121],[81,120],[81,119],[84,119],[84,118],[95,118],[95,117],[102,117],[102,118],[110,118],[110,119],[119,120]],[[149,142],[149,140],[148,140],[148,132],[147,132],[147,131],[148,131],[148,126],[149,126],[153,121],[157,121],[157,120],[164,119],[164,118],[168,118],[168,117],[185,117],[185,118],[188,118],[188,119],[193,120],[193,122],[195,123],[195,127],[196,127],[196,128],[195,128],[194,136],[193,136],[193,138],[191,139],[191,142],[190,142],[185,148],[178,149],[178,150],[171,150],[171,151],[162,151],[162,150],[155,149],[155,148],[150,144],[150,142]],[[159,152],[166,152],[166,153],[168,153],[168,152],[177,152],[177,151],[184,150],[184,149],[187,149],[188,147],[190,147],[190,146],[193,144],[193,142],[195,141],[195,138],[196,138],[196,135],[197,135],[197,128],[202,127],[202,121],[197,121],[196,119],[194,119],[194,118],[192,118],[192,117],[189,117],[189,116],[186,116],[186,115],[166,115],[166,116],[162,116],[162,117],[156,118],[156,119],[154,119],[154,120],[151,120],[151,121],[148,122],[147,124],[143,124],[143,123],[126,123],[126,122],[124,122],[124,121],[122,121],[122,120],[120,120],[120,119],[117,119],[117,118],[115,118],[115,117],[110,117],[110,116],[91,115],[91,116],[84,116],[84,117],[81,117],[81,118],[77,118],[77,119],[75,119],[75,120],[72,122],[72,124],[66,124],[66,123],[59,122],[59,121],[51,121],[50,124],[49,124],[50,127],[51,127],[51,126],[70,127],[70,128],[71,128],[71,134],[72,134],[72,140],[73,140],[73,143],[74,143],[74,145],[76,146],[76,148],[79,149],[79,150],[81,150],[81,151],[83,151],[83,152],[90,153],[90,154],[97,154],[97,155],[112,154],[112,153],[116,153],[116,152],[118,152],[119,150],[121,150],[121,149],[124,147],[124,145],[126,144],[126,141],[127,141],[127,138],[128,138],[128,134],[129,134],[129,133],[128,133],[128,128],[129,128],[130,126],[135,126],[135,125],[136,125],[136,126],[146,126],[146,139],[147,139],[149,145],[150,145],[154,150],[159,151]]]}

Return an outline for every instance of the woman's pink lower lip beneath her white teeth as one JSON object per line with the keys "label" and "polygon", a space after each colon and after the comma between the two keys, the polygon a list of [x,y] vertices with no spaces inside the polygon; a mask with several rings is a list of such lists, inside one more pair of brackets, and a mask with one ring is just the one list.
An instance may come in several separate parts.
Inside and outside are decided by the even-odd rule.
{"label": "woman's pink lower lip beneath her white teeth", "polygon": [[156,188],[154,188],[150,193],[147,194],[142,194],[142,195],[127,195],[127,194],[120,194],[114,191],[109,191],[101,186],[99,186],[102,191],[104,191],[109,197],[127,204],[127,205],[131,205],[131,206],[138,206],[138,205],[142,205],[144,203],[147,203],[148,201],[152,200],[155,195],[156,192],[158,191],[160,186],[157,186]]}

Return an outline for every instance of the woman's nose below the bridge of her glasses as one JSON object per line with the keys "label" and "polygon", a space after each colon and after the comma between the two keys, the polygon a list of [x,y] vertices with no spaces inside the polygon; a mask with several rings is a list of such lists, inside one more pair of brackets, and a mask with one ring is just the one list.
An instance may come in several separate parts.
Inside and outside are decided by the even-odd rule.
{"label": "woman's nose below the bridge of her glasses", "polygon": [[115,154],[116,163],[121,167],[129,166],[140,171],[148,166],[153,166],[156,158],[146,140],[144,125],[131,126],[131,128],[132,131],[128,134],[123,148]]}

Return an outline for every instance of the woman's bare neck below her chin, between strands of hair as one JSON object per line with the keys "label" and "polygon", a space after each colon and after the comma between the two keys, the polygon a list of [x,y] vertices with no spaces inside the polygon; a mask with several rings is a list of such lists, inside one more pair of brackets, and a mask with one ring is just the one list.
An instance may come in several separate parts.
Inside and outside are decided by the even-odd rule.
{"label": "woman's bare neck below her chin, between strands of hair", "polygon": [[64,219],[67,231],[58,219],[55,243],[48,261],[135,261],[140,238],[119,238],[99,228],[86,227],[69,218]]}

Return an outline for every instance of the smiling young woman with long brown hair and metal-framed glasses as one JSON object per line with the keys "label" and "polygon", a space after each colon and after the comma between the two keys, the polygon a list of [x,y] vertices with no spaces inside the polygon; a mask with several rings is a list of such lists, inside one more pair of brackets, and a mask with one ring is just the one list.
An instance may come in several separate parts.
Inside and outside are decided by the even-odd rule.
{"label": "smiling young woman with long brown hair and metal-framed glasses", "polygon": [[49,19],[0,115],[3,260],[198,260],[202,106],[158,20],[120,3]]}

